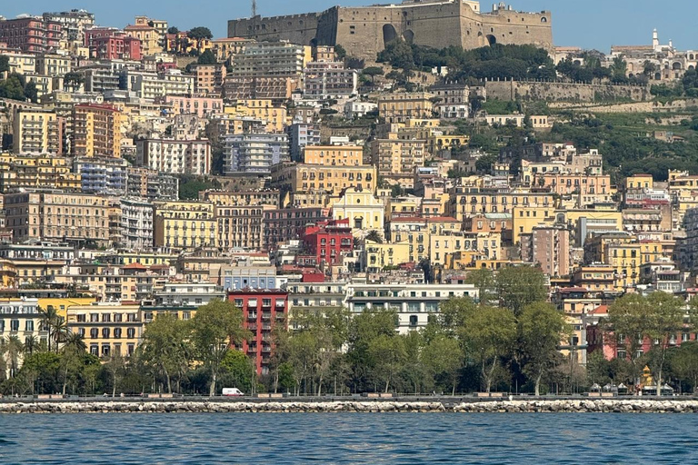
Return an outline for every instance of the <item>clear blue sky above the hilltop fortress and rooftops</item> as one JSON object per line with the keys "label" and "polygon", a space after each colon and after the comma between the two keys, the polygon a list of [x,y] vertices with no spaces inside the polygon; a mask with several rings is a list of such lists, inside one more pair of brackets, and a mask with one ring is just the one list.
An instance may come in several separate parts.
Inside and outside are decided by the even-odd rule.
{"label": "clear blue sky above the hilltop fortress and rooftops", "polygon": [[[400,0],[392,0],[400,3]],[[495,0],[481,1],[488,11]],[[257,0],[260,15],[321,11],[333,5],[372,5],[390,0]],[[4,4],[4,5],[3,5]],[[204,25],[216,37],[226,35],[228,19],[250,15],[252,0],[31,0],[0,1],[0,15],[13,18],[27,13],[85,8],[95,13],[98,25],[124,27],[135,15],[164,19],[180,30]],[[662,6],[666,6],[663,8]],[[662,44],[670,39],[679,50],[698,49],[697,0],[513,0],[519,11],[552,10],[555,45],[576,45],[608,52],[611,45],[650,45],[657,28]]]}

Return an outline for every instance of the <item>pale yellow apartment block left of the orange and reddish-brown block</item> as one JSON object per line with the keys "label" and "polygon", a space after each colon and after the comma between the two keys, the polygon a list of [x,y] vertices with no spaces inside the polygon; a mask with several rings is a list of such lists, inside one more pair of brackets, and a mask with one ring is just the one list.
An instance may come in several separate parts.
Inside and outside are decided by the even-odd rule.
{"label": "pale yellow apartment block left of the orange and reddish-brown block", "polygon": [[63,154],[65,120],[54,111],[17,109],[12,123],[15,153]]}

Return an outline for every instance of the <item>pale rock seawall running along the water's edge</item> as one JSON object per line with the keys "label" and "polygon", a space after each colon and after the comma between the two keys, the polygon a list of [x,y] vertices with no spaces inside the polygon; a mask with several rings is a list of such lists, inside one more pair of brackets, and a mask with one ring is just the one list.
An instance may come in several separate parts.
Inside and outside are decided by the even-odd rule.
{"label": "pale rock seawall running along the water's edge", "polygon": [[79,401],[5,402],[2,413],[698,413],[698,401],[575,400],[575,401]]}

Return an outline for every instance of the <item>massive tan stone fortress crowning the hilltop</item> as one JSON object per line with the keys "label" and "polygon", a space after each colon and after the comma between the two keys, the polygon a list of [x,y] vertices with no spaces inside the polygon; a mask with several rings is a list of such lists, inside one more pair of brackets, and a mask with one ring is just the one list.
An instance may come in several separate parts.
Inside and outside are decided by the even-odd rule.
{"label": "massive tan stone fortress crowning the hilltop", "polygon": [[228,37],[287,40],[300,45],[342,45],[350,56],[374,60],[402,37],[416,45],[473,49],[492,44],[553,49],[551,13],[522,13],[493,5],[483,13],[471,0],[404,0],[397,5],[334,6],[321,13],[234,19]]}

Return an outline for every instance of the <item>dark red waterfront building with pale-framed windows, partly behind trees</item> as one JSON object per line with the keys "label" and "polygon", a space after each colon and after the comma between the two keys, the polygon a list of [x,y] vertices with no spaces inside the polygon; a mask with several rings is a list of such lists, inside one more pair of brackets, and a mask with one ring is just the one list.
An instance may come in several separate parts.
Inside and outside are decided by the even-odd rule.
{"label": "dark red waterfront building with pale-framed windows, partly behind trees", "polygon": [[278,324],[287,324],[288,292],[244,289],[228,292],[228,301],[243,311],[244,328],[253,333],[252,339],[243,343],[244,353],[254,360],[257,374],[268,373],[274,351],[272,331]]}

